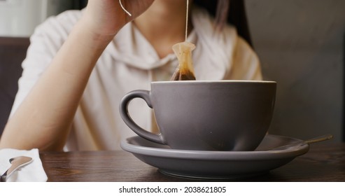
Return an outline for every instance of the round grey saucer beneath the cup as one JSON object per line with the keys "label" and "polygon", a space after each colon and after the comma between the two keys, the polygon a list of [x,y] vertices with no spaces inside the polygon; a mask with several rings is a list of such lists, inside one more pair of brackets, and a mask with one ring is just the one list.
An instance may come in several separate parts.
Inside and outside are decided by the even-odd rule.
{"label": "round grey saucer beneath the cup", "polygon": [[300,139],[267,134],[255,151],[184,151],[141,137],[130,137],[121,142],[121,147],[146,164],[157,167],[163,174],[200,179],[239,179],[265,174],[307,153],[307,144],[262,151],[297,141]]}

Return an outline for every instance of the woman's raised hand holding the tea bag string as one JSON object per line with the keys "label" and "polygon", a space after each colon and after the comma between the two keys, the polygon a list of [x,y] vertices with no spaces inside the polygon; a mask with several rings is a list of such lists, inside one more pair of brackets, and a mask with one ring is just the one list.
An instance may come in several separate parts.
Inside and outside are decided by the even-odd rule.
{"label": "woman's raised hand holding the tea bag string", "polygon": [[[122,6],[131,13],[127,15]],[[97,36],[115,36],[127,22],[141,15],[154,0],[89,0],[83,16],[88,29]]]}

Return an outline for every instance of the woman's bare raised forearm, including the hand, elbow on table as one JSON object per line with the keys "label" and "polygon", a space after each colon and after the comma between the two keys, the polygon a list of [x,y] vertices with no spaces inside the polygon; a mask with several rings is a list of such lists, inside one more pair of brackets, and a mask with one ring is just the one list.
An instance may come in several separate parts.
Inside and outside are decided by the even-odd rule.
{"label": "woman's bare raised forearm, including the hand, elbow on table", "polygon": [[62,150],[94,64],[130,20],[153,0],[89,0],[85,13],[48,69],[8,121],[0,148]]}

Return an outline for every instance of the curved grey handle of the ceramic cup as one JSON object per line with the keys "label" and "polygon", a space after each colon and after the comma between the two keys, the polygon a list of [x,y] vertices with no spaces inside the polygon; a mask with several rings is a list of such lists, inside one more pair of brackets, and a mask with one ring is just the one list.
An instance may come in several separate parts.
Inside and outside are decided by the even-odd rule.
{"label": "curved grey handle of the ceramic cup", "polygon": [[126,123],[126,125],[133,130],[136,134],[144,139],[148,139],[158,144],[166,144],[162,134],[153,134],[144,130],[143,128],[139,127],[134,120],[129,116],[128,113],[128,104],[134,98],[141,98],[145,100],[146,104],[152,109],[151,99],[150,99],[150,91],[148,90],[133,90],[125,94],[125,97],[122,97],[120,102],[120,116],[122,120]]}

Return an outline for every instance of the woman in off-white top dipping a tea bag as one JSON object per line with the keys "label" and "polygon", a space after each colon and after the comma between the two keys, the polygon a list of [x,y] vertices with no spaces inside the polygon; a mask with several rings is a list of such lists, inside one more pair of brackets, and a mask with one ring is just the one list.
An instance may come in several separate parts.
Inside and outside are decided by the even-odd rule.
{"label": "woman in off-white top dipping a tea bag", "polygon": [[[118,104],[130,90],[171,77],[178,64],[171,46],[185,40],[186,0],[122,5],[132,17],[119,1],[89,0],[85,10],[62,13],[36,29],[0,148],[113,150],[134,134]],[[197,80],[262,78],[258,57],[234,27],[218,31],[205,10],[190,13]],[[141,127],[157,131],[145,103],[129,110]]]}

